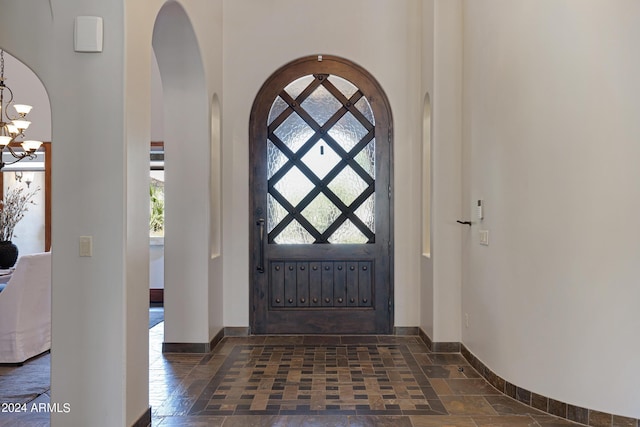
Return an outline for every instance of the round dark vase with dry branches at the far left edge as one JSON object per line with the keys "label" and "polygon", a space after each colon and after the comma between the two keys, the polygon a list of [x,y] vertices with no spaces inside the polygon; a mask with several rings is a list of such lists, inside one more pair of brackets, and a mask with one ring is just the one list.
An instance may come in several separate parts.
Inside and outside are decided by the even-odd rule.
{"label": "round dark vase with dry branches at the far left edge", "polygon": [[8,188],[0,200],[0,268],[13,267],[18,259],[18,248],[12,242],[13,232],[29,210],[35,205],[34,196],[40,188],[26,190],[24,187]]}

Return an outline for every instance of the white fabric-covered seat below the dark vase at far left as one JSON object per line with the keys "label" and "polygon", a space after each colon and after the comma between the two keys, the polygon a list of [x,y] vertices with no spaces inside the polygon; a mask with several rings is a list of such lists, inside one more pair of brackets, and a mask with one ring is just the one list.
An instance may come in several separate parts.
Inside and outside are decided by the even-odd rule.
{"label": "white fabric-covered seat below the dark vase at far left", "polygon": [[51,349],[51,252],[22,255],[0,292],[0,363]]}

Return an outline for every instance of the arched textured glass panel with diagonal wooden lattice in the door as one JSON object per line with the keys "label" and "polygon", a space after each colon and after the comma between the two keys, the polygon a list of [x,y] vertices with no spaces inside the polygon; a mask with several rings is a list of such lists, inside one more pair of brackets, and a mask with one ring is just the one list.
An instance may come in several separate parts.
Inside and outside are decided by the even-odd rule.
{"label": "arched textured glass panel with diagonal wooden lattice in the door", "polygon": [[275,244],[375,241],[371,106],[334,75],[296,79],[267,125],[267,231]]}

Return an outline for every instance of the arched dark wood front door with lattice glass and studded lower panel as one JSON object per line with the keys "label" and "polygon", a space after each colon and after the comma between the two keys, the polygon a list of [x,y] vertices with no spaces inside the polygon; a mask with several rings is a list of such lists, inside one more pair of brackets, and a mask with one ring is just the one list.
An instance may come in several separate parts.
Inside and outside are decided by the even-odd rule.
{"label": "arched dark wood front door with lattice glass and studded lower panel", "polygon": [[250,123],[251,327],[385,334],[393,326],[391,112],[336,57],[274,73]]}

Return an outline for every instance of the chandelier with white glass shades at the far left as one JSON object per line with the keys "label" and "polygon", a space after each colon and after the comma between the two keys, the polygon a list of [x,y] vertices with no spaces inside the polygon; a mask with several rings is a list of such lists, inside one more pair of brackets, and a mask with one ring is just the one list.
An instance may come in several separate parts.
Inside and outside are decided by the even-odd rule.
{"label": "chandelier with white glass shades at the far left", "polygon": [[[10,106],[13,106],[13,109],[18,114],[17,116],[11,116],[9,112]],[[0,50],[0,170],[20,160],[36,158],[35,153],[42,145],[42,142],[23,140],[24,132],[31,124],[30,121],[25,119],[31,108],[31,105],[13,103],[13,91],[5,84],[4,50]],[[22,146],[24,151],[14,149],[17,143]],[[4,153],[11,154],[15,160],[5,163]]]}

